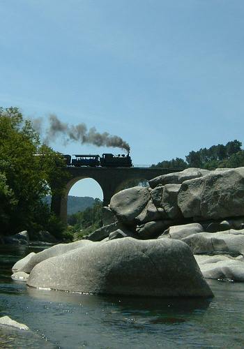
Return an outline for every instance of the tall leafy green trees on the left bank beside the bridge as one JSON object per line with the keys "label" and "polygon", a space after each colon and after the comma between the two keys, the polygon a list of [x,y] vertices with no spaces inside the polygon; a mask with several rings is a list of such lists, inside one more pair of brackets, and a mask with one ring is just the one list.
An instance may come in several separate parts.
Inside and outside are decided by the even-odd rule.
{"label": "tall leafy green trees on the left bank beside the bridge", "polygon": [[[64,164],[61,154],[40,144],[31,121],[24,120],[17,108],[0,108],[1,233],[54,227],[54,218],[42,199],[50,187],[52,193],[63,190],[67,177],[66,171],[61,169]],[[55,225],[58,227],[56,235],[59,235],[63,228],[57,222]]]}

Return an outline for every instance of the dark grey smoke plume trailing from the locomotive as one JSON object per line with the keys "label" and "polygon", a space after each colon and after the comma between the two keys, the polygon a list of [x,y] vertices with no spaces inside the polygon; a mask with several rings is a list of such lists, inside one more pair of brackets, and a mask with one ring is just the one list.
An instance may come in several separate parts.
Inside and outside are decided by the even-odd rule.
{"label": "dark grey smoke plume trailing from the locomotive", "polygon": [[[40,128],[40,119],[36,124]],[[107,132],[99,133],[95,127],[88,129],[84,123],[69,125],[60,121],[55,114],[50,114],[45,143],[49,144],[59,136],[62,136],[64,144],[73,141],[81,144],[93,144],[97,147],[118,147],[130,151],[130,145],[117,135],[109,135]]]}

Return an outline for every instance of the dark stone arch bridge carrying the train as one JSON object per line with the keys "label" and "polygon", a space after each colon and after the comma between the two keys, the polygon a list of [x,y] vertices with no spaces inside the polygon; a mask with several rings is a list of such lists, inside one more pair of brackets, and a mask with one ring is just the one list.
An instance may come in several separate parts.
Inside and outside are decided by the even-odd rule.
{"label": "dark stone arch bridge carrying the train", "polygon": [[117,193],[123,183],[133,179],[149,181],[161,174],[178,172],[179,169],[169,168],[67,168],[70,178],[66,183],[63,196],[52,197],[52,211],[67,223],[67,200],[70,188],[80,179],[91,178],[100,184],[103,193],[103,205],[107,206],[112,196]]}

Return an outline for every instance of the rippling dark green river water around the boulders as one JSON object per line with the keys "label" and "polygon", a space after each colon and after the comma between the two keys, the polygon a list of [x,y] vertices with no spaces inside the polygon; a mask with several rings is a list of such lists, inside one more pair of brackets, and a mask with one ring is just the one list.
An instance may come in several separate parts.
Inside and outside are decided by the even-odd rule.
{"label": "rippling dark green river water around the boulders", "polygon": [[[43,249],[43,246],[41,247]],[[243,348],[244,284],[210,281],[213,299],[79,295],[26,288],[10,278],[40,248],[0,246],[0,348]]]}

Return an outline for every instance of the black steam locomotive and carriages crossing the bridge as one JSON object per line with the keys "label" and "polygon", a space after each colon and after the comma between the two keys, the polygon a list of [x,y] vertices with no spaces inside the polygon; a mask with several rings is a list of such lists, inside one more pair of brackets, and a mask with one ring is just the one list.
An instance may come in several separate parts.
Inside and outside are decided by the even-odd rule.
{"label": "black steam locomotive and carriages crossing the bridge", "polygon": [[74,166],[80,168],[82,166],[89,166],[91,168],[131,168],[132,160],[130,154],[114,155],[114,154],[102,154],[99,155],[79,155],[75,154],[75,158],[71,155],[64,155],[66,158],[67,166]]}

